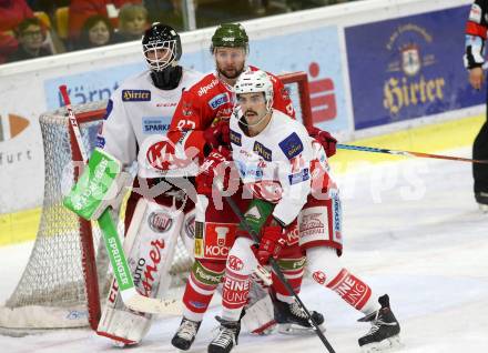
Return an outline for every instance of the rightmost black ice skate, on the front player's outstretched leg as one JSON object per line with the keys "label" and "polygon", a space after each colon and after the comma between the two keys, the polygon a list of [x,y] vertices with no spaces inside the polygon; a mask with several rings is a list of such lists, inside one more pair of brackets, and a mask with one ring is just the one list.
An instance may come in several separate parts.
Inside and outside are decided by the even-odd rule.
{"label": "rightmost black ice skate, on the front player's outstretched leg", "polygon": [[400,345],[400,325],[389,307],[388,294],[378,299],[382,309],[359,319],[359,322],[370,322],[372,329],[359,339],[364,353],[385,351]]}

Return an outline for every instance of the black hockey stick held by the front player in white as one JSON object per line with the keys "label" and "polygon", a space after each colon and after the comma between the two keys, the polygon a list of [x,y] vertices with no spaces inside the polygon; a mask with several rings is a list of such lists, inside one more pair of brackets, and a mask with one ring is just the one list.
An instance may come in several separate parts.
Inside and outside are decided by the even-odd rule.
{"label": "black hockey stick held by the front player in white", "polygon": [[[217,185],[217,189],[220,191],[224,190],[224,186],[222,184],[222,181],[220,180],[215,180],[215,183]],[[257,236],[257,234],[255,233],[255,231],[250,226],[250,224],[247,223],[247,221],[244,218],[244,214],[241,212],[241,210],[238,209],[238,206],[235,204],[234,200],[232,200],[231,196],[224,196],[225,201],[228,203],[228,205],[231,206],[232,211],[234,211],[235,215],[237,215],[238,220],[241,221],[241,224],[244,226],[245,231],[247,233],[250,233],[251,238],[253,239],[253,241],[255,243],[260,243],[260,239]],[[283,285],[286,288],[286,290],[292,293],[292,295],[295,297],[296,302],[298,303],[299,307],[304,311],[305,315],[308,319],[308,323],[312,325],[312,327],[314,329],[315,333],[317,334],[318,339],[321,339],[322,343],[324,343],[325,347],[327,349],[327,351],[329,353],[335,353],[333,346],[331,345],[331,343],[328,343],[327,339],[325,337],[324,333],[318,329],[317,323],[314,321],[314,319],[312,317],[311,312],[306,309],[305,304],[302,302],[302,300],[299,299],[298,294],[296,294],[296,292],[293,290],[292,285],[289,285],[288,281],[285,279],[285,276],[283,275],[282,270],[279,270],[279,265],[276,262],[275,259],[270,258],[270,264],[273,268],[274,272],[276,273],[276,275],[278,276],[279,281],[283,283]]]}

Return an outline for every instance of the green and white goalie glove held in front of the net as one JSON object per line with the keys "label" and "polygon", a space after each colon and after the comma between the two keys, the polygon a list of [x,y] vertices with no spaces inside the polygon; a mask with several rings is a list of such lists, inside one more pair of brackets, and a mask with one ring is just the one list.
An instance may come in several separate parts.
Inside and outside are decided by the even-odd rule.
{"label": "green and white goalie glove held in front of the net", "polygon": [[132,181],[132,176],[121,170],[118,159],[95,149],[63,204],[85,220],[100,219],[109,206],[115,209],[122,202],[123,190]]}

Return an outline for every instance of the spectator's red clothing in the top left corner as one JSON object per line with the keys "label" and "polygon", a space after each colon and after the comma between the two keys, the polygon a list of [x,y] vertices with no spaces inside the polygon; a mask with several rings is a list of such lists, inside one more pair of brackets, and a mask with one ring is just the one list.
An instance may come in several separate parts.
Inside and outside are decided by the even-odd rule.
{"label": "spectator's red clothing in the top left corner", "polygon": [[0,63],[17,50],[18,41],[13,30],[28,18],[33,18],[26,0],[0,0]]}

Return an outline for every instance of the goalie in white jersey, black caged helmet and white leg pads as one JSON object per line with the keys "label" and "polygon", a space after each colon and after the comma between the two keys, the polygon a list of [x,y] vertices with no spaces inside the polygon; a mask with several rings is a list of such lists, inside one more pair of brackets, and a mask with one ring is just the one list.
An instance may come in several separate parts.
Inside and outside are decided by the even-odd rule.
{"label": "goalie in white jersey, black caged helmet and white leg pads", "polygon": [[[142,49],[149,70],[126,79],[113,92],[96,145],[125,168],[136,165],[138,178],[124,219],[124,251],[138,291],[161,297],[170,283],[177,236],[191,236],[185,234],[191,226],[183,225],[192,222],[194,204],[184,189],[193,186],[181,178],[190,175],[187,170],[160,171],[151,163],[151,155],[163,148],[174,152],[170,151],[174,145],[166,143],[165,134],[183,90],[202,74],[179,65],[180,36],[169,26],[152,24],[142,38]],[[98,333],[120,345],[131,345],[142,340],[150,323],[150,314],[125,309],[113,281]]]}

